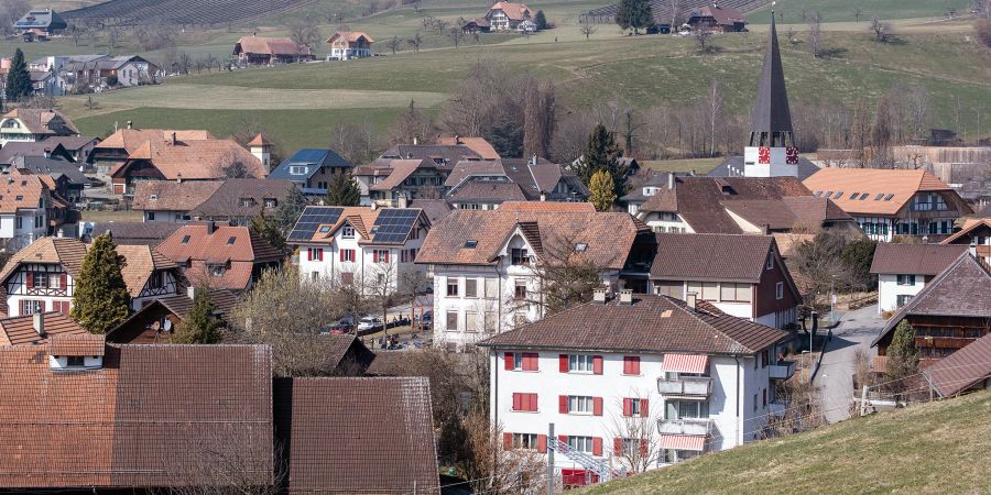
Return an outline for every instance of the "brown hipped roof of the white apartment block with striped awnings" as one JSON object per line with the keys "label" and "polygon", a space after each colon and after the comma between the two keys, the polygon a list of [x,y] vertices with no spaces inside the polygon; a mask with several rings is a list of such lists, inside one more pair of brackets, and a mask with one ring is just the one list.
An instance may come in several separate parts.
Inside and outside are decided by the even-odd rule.
{"label": "brown hipped roof of the white apartment block with striped awnings", "polygon": [[723,314],[699,302],[696,310],[666,296],[634,295],[587,302],[523,324],[479,343],[491,348],[606,352],[753,354],[787,338],[787,332]]}

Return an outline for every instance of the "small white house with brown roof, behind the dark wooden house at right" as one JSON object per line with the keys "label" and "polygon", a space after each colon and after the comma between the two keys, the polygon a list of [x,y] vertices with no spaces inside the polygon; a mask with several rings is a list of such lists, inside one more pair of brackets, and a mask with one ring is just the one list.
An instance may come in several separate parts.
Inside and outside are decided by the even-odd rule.
{"label": "small white house with brown roof, behind the dark wooden house at right", "polygon": [[966,251],[966,245],[878,244],[871,262],[871,275],[878,276],[878,314],[907,305]]}

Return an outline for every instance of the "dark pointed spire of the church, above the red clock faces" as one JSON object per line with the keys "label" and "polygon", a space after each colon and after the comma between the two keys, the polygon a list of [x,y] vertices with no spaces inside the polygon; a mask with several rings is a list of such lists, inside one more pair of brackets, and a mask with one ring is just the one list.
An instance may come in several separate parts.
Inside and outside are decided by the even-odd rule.
{"label": "dark pointed spire of the church, above the red clock faces", "polygon": [[777,28],[774,10],[771,11],[771,33],[764,52],[764,67],[758,86],[756,105],[751,119],[751,146],[794,146],[792,112],[788,109],[788,91],[785,88],[781,50],[777,46]]}

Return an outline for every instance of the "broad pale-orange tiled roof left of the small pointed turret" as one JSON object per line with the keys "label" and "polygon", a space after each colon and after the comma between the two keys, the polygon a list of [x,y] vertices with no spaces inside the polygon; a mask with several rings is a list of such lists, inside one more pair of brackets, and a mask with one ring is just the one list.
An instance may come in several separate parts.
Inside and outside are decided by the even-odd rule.
{"label": "broad pale-orange tiled roof left of the small pointed turret", "polygon": [[151,162],[166,180],[224,178],[222,167],[236,161],[244,164],[253,177],[263,178],[265,168],[248,150],[231,140],[145,141],[128,161],[110,175],[118,177],[135,161]]}

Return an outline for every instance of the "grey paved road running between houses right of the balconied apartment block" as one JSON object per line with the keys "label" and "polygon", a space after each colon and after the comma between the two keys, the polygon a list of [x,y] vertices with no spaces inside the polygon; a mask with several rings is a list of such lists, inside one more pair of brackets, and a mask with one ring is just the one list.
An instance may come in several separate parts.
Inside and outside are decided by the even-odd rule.
{"label": "grey paved road running between houses right of the balconied apartment block", "polygon": [[840,326],[832,331],[832,341],[826,343],[823,367],[815,381],[823,394],[826,420],[829,422],[849,418],[854,355],[858,349],[863,349],[869,356],[876,355],[878,351],[870,344],[884,328],[884,319],[878,315],[875,305],[841,314],[840,320]]}

